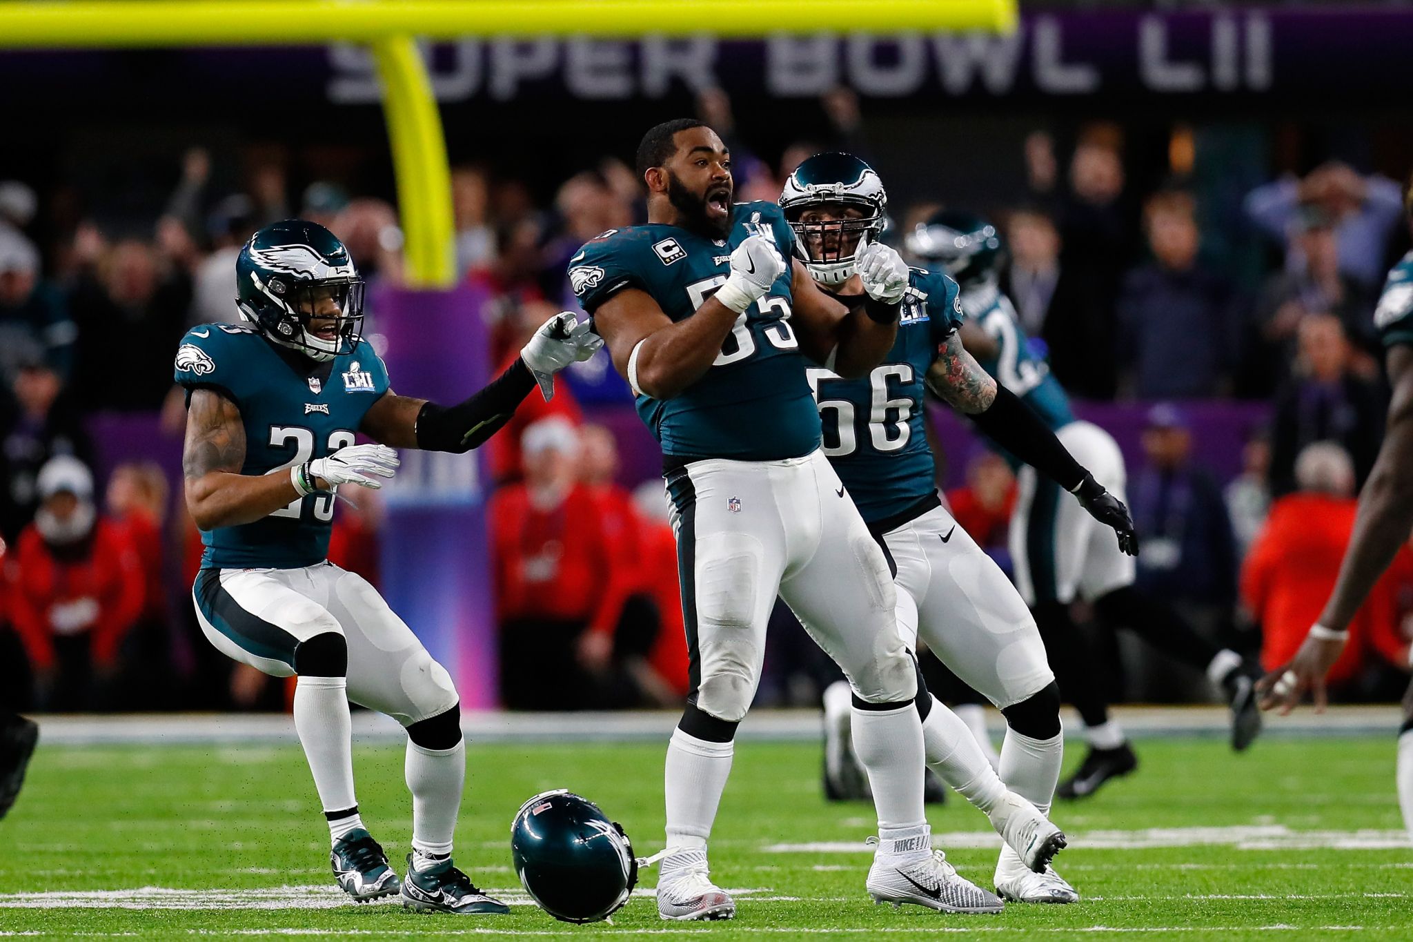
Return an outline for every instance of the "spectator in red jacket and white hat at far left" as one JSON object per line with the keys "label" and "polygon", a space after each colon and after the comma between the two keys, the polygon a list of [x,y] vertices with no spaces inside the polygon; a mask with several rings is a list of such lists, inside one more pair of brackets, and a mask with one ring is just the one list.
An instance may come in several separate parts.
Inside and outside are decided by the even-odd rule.
{"label": "spectator in red jacket and white hat at far left", "polygon": [[141,562],[126,531],[97,515],[93,476],[82,462],[49,460],[38,493],[40,510],[16,554],[11,617],[41,703],[93,709],[117,674],[123,636],[143,612]]}

